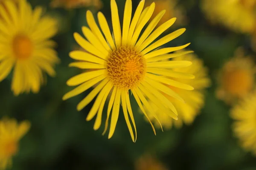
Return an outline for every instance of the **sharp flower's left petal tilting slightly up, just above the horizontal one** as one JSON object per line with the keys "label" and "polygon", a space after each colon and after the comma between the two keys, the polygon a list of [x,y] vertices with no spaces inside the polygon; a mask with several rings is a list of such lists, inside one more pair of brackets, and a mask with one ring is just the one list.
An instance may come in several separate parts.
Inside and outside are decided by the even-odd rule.
{"label": "sharp flower's left petal tilting slightly up, just above the horizontal one", "polygon": [[69,56],[76,60],[95,62],[102,65],[106,64],[106,61],[104,59],[101,59],[84,51],[71,51]]}

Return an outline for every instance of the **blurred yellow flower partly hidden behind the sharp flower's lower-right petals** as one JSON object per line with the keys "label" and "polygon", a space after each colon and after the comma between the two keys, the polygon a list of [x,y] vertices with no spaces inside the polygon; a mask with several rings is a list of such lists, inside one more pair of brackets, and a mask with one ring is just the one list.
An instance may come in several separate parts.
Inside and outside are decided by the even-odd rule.
{"label": "blurred yellow flower partly hidden behind the sharp flower's lower-right petals", "polygon": [[[154,105],[153,102],[150,102],[151,107],[154,109],[155,114],[158,116],[159,121],[165,128],[171,128],[172,125],[175,125],[175,127],[181,127],[183,125],[183,122],[186,125],[190,125],[195,117],[200,113],[201,108],[204,106],[204,89],[209,87],[210,85],[210,79],[208,78],[207,74],[207,68],[204,67],[203,61],[201,59],[198,59],[198,57],[195,54],[190,54],[192,51],[184,51],[185,55],[182,55],[180,57],[175,57],[173,61],[191,61],[192,65],[186,68],[174,68],[173,71],[180,73],[180,74],[193,74],[195,76],[195,79],[192,79],[193,77],[187,77],[187,79],[184,78],[175,78],[173,77],[175,81],[182,82],[184,84],[191,85],[195,88],[194,91],[187,91],[184,89],[179,89],[172,87],[170,85],[166,85],[166,87],[171,88],[173,91],[175,91],[177,94],[179,94],[185,101],[180,102],[179,100],[176,100],[172,96],[168,96],[164,94],[164,96],[169,99],[170,102],[175,106],[177,109],[178,114],[178,120],[174,120],[170,118],[167,114],[162,113],[156,105]],[[154,121],[154,116],[149,112],[148,117],[150,120]],[[158,125],[157,122],[155,122],[155,125]],[[159,126],[158,126],[159,127]]]}

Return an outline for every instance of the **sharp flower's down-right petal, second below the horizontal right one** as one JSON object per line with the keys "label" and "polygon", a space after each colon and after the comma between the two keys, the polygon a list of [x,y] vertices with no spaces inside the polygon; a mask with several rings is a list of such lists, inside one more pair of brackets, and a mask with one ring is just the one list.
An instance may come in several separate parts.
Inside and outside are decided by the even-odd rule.
{"label": "sharp flower's down-right petal, second below the horizontal right one", "polygon": [[168,79],[168,78],[165,78],[165,77],[162,77],[162,76],[156,76],[154,74],[146,73],[146,77],[148,77],[150,79],[153,79],[155,81],[158,81],[158,82],[162,82],[166,85],[171,85],[171,86],[176,87],[176,88],[182,88],[182,89],[185,89],[185,90],[194,90],[194,88],[190,85],[186,85],[186,84],[183,84],[181,82],[177,82],[173,79]]}

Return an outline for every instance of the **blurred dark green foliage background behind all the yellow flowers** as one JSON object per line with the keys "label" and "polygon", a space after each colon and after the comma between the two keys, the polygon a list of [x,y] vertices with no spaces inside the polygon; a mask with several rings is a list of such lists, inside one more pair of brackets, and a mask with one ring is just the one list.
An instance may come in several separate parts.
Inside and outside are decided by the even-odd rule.
{"label": "blurred dark green foliage background behind all the yellow flowers", "polygon": [[[201,114],[190,126],[181,129],[157,130],[157,136],[148,122],[138,112],[131,99],[138,138],[133,143],[125,119],[120,114],[114,136],[108,140],[102,136],[103,127],[93,130],[94,121],[85,118],[92,104],[82,111],[76,105],[89,91],[62,101],[62,96],[72,87],[67,79],[81,70],[68,68],[72,59],[68,53],[78,47],[73,32],[81,33],[86,26],[87,9],[65,10],[50,8],[49,0],[29,0],[32,6],[41,5],[59,19],[60,32],[54,37],[61,63],[57,65],[55,78],[48,77],[47,85],[38,94],[22,94],[15,97],[10,90],[12,75],[0,83],[0,116],[9,116],[18,121],[27,119],[32,127],[20,141],[20,152],[13,159],[13,170],[133,170],[140,156],[151,153],[169,170],[256,170],[256,158],[239,147],[232,133],[230,108],[215,98],[216,71],[233,56],[237,47],[250,49],[250,37],[237,34],[221,26],[212,26],[200,8],[199,0],[180,0],[179,6],[186,10],[187,23],[165,32],[185,27],[186,32],[166,44],[183,45],[204,59],[212,78],[212,87],[207,90],[206,104]],[[119,17],[122,18],[125,0],[116,0]],[[102,12],[111,26],[110,0],[102,0]],[[133,11],[139,0],[133,0]],[[167,9],[168,10],[168,9]],[[103,117],[105,120],[105,117]]]}

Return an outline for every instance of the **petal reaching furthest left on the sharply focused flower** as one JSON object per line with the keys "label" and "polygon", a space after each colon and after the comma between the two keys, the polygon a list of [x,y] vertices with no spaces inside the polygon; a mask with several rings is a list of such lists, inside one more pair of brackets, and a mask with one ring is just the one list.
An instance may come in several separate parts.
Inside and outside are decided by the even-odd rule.
{"label": "petal reaching furthest left on the sharply focused flower", "polygon": [[63,100],[67,100],[73,96],[79,95],[86,91],[87,89],[91,88],[96,83],[100,82],[101,80],[105,79],[107,75],[101,75],[99,77],[95,77],[93,79],[88,80],[87,82],[84,82],[83,84],[79,85],[77,88],[73,89],[72,91],[68,92],[63,96]]}

